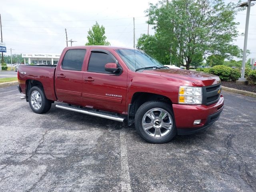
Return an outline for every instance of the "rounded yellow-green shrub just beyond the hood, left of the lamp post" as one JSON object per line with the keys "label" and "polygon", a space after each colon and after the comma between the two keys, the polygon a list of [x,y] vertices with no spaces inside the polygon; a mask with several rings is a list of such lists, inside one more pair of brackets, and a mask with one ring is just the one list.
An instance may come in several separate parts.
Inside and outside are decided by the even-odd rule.
{"label": "rounded yellow-green shrub just beyond the hood, left of the lamp post", "polygon": [[220,77],[222,81],[228,81],[230,79],[232,68],[224,65],[216,65],[209,68],[209,73]]}

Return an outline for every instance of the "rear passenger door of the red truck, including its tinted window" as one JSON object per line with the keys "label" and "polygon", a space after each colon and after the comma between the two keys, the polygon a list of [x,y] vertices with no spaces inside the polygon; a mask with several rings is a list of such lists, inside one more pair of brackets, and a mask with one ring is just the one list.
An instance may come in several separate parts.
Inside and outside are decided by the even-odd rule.
{"label": "rear passenger door of the red truck, including its tinted window", "polygon": [[62,63],[58,64],[55,74],[55,90],[58,101],[82,104],[82,65],[86,49],[67,50]]}

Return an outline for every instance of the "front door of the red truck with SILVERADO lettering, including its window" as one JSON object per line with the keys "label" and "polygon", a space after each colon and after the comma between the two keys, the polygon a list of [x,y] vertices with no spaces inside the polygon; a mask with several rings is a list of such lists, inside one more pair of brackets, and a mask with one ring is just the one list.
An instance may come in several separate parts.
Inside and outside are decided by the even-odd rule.
{"label": "front door of the red truck with SILVERADO lettering, including its window", "polygon": [[125,113],[127,71],[116,75],[104,68],[117,60],[106,50],[90,50],[87,71],[83,74],[82,97],[84,106]]}

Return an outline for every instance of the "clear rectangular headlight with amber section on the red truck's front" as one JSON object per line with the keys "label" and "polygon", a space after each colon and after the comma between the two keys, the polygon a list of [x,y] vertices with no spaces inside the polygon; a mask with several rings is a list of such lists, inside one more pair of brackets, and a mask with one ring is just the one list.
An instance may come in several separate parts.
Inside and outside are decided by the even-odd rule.
{"label": "clear rectangular headlight with amber section on the red truck's front", "polygon": [[179,104],[202,104],[202,87],[180,86]]}

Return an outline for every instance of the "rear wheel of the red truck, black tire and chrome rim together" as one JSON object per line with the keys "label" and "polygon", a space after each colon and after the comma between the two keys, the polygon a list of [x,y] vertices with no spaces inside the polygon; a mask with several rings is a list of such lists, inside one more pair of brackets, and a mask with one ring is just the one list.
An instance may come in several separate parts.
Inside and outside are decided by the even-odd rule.
{"label": "rear wheel of the red truck, black tire and chrome rim together", "polygon": [[43,88],[38,86],[29,90],[28,102],[30,108],[38,114],[48,112],[52,106],[52,102],[46,98]]}

